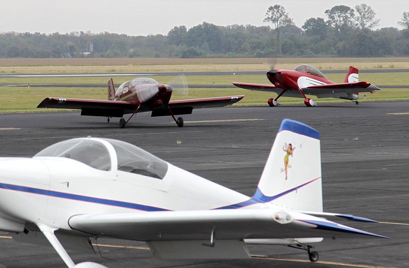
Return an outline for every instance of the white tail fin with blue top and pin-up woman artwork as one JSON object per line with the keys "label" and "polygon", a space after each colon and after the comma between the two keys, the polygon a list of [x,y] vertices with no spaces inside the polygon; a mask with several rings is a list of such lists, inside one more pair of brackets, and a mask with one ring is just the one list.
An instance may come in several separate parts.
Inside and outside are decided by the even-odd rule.
{"label": "white tail fin with blue top and pin-up woman artwork", "polygon": [[284,119],[253,200],[293,210],[323,211],[320,133]]}

